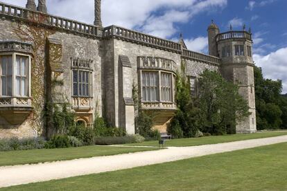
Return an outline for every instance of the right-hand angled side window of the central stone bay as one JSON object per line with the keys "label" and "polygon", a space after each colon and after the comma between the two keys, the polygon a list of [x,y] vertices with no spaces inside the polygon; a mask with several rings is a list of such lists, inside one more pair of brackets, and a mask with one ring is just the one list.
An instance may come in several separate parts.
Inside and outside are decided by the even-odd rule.
{"label": "right-hand angled side window of the central stone bay", "polygon": [[172,82],[171,82],[171,73],[162,72],[162,101],[163,102],[172,102]]}

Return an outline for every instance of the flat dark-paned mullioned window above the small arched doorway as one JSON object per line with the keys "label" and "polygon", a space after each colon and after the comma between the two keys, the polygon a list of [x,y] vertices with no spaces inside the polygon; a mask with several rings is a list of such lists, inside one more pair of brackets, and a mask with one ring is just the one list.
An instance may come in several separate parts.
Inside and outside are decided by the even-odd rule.
{"label": "flat dark-paned mullioned window above the small arched doorway", "polygon": [[73,70],[73,96],[91,97],[91,72]]}

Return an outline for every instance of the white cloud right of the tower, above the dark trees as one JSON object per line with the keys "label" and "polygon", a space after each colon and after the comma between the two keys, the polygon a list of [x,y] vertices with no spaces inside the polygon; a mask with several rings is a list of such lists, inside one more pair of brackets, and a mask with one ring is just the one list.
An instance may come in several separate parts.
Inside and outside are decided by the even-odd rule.
{"label": "white cloud right of the tower, above the dark trees", "polygon": [[287,47],[268,55],[254,54],[254,62],[262,68],[266,78],[282,80],[283,93],[287,93]]}

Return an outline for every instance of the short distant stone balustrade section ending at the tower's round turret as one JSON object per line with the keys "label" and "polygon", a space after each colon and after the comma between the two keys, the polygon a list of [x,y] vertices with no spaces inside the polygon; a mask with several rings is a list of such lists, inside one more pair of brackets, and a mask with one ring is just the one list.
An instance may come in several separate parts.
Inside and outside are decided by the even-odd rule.
{"label": "short distant stone balustrade section ending at the tower's round turret", "polygon": [[218,57],[214,57],[211,55],[205,55],[202,53],[196,53],[193,51],[189,51],[184,49],[182,53],[183,57],[191,58],[193,60],[200,60],[202,62],[207,62],[211,64],[220,64],[221,60]]}

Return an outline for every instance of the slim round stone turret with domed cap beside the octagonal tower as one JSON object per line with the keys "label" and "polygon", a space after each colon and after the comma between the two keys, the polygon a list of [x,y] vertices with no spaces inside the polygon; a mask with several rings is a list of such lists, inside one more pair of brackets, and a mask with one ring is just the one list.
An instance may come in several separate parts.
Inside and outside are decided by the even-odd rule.
{"label": "slim round stone turret with domed cap beside the octagonal tower", "polygon": [[209,55],[218,57],[218,50],[216,44],[216,35],[219,33],[219,28],[214,24],[214,20],[211,21],[211,25],[207,28],[208,32],[208,45]]}

